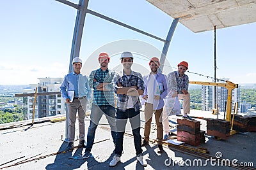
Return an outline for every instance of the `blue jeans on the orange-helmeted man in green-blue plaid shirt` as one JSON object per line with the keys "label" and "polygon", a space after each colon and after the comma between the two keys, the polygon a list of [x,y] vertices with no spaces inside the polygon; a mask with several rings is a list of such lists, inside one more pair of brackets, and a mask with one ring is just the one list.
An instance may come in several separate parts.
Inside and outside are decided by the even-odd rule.
{"label": "blue jeans on the orange-helmeted man in green-blue plaid shirt", "polygon": [[92,149],[92,145],[95,138],[95,131],[97,129],[97,126],[99,125],[100,118],[104,114],[108,120],[108,124],[111,128],[111,136],[113,138],[113,143],[116,143],[116,118],[115,118],[116,110],[111,105],[102,105],[98,106],[97,104],[92,104],[92,110],[91,110],[91,120],[90,120],[90,126],[88,128],[87,133],[87,143],[85,148]]}

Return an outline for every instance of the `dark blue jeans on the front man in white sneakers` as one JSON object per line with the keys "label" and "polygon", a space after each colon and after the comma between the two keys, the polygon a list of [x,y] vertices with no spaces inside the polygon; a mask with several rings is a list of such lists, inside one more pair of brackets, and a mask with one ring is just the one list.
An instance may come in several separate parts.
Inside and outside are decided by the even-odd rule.
{"label": "dark blue jeans on the front man in white sneakers", "polygon": [[132,134],[134,139],[134,146],[136,150],[136,155],[139,157],[142,155],[141,149],[141,135],[140,135],[140,110],[135,111],[134,108],[127,109],[125,112],[117,110],[116,111],[116,148],[115,155],[121,157],[123,151],[123,142],[124,142],[124,132],[127,119],[129,118]]}

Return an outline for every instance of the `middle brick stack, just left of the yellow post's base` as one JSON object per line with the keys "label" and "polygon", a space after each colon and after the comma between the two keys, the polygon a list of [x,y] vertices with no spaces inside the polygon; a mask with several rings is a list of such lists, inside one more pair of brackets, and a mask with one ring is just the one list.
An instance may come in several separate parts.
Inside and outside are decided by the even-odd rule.
{"label": "middle brick stack, just left of the yellow post's base", "polygon": [[220,119],[207,119],[207,135],[227,139],[230,136],[230,123]]}

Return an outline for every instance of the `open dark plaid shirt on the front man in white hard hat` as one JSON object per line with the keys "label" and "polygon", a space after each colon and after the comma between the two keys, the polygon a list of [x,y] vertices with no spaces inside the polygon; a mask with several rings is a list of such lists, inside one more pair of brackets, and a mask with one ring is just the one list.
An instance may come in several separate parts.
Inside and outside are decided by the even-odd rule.
{"label": "open dark plaid shirt on the front man in white hard hat", "polygon": [[[122,76],[120,76],[122,75]],[[116,74],[114,77],[115,82],[115,92],[118,87],[131,87],[136,85],[138,89],[144,90],[144,82],[140,73],[131,71],[131,74],[127,76],[120,71],[120,74]],[[126,94],[117,94],[117,108],[119,110],[125,111],[128,104],[128,96]],[[134,110],[138,111],[141,108],[139,96],[130,96],[132,97],[132,103],[134,104]]]}

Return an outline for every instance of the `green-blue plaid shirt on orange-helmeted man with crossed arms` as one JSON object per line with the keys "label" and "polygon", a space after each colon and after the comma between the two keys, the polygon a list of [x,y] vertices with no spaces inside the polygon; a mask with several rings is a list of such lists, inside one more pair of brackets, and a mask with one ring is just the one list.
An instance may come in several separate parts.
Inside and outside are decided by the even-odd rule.
{"label": "green-blue plaid shirt on orange-helmeted man with crossed arms", "polygon": [[[115,76],[114,71],[102,71],[102,69],[93,70],[89,76],[89,85],[93,89],[93,103],[99,106],[112,105],[115,106],[114,102],[114,85],[113,77]],[[96,80],[96,81],[93,81]],[[104,87],[108,91],[97,90],[100,83],[109,83]]]}

